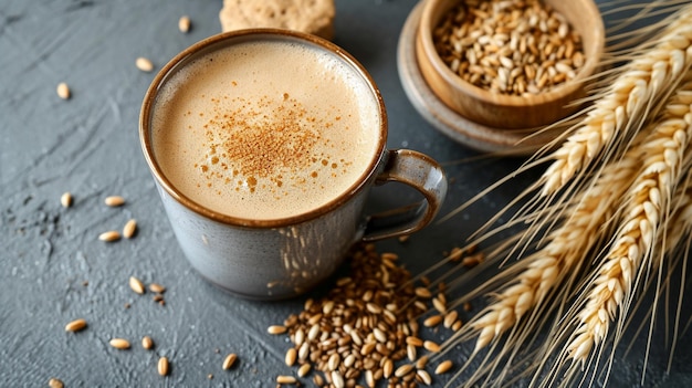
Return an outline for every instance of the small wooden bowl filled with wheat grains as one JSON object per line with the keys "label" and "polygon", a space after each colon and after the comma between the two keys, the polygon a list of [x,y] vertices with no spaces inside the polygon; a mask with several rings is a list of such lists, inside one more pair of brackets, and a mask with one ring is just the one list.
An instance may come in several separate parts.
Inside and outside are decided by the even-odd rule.
{"label": "small wooden bowl filled with wheat grains", "polygon": [[532,129],[580,107],[605,45],[594,0],[428,0],[416,61],[430,90],[479,125]]}

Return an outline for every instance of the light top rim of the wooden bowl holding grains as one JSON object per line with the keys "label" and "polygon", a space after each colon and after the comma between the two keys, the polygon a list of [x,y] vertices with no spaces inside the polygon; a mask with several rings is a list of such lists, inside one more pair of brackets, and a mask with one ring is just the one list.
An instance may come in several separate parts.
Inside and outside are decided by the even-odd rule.
{"label": "light top rim of the wooden bowl holding grains", "polygon": [[[597,28],[594,31],[594,36],[596,36],[596,44],[594,44],[593,46],[589,45],[590,50],[589,48],[585,48],[586,62],[573,80],[541,94],[528,94],[522,96],[492,93],[462,80],[459,75],[454,74],[451,69],[449,69],[449,66],[444,64],[444,62],[442,62],[442,59],[438,54],[438,51],[432,43],[433,27],[431,25],[432,13],[437,11],[438,7],[449,6],[449,8],[451,9],[451,7],[453,7],[455,3],[462,1],[463,0],[424,0],[422,4],[423,9],[420,17],[418,32],[424,51],[424,55],[421,55],[423,57],[419,57],[419,61],[429,61],[429,63],[432,64],[434,71],[442,76],[444,82],[453,90],[460,92],[462,95],[480,99],[484,103],[501,106],[522,107],[539,105],[547,102],[558,101],[573,94],[578,87],[583,86],[583,83],[589,76],[591,76],[596,72],[596,67],[598,65],[598,62],[600,61],[600,55],[604,52],[606,35],[600,11],[598,10],[596,2],[594,2],[593,0],[568,0],[574,1],[575,3],[579,3],[588,10],[581,17],[598,17],[598,20],[596,21]],[[574,24],[574,15],[564,14],[564,17],[567,19],[567,21],[569,21],[570,24]],[[439,20],[437,20],[436,23],[437,22],[439,22]],[[587,50],[589,51],[588,54]]]}

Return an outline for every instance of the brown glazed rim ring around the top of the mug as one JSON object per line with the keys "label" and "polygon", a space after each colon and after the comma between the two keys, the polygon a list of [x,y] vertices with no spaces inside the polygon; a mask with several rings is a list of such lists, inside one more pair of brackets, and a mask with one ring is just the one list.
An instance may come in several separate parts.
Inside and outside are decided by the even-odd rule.
{"label": "brown glazed rim ring around the top of the mug", "polygon": [[[378,136],[379,144],[377,145],[376,151],[373,154],[373,158],[368,164],[367,169],[360,175],[358,180],[354,182],[347,190],[345,190],[342,195],[334,198],[329,202],[315,208],[308,212],[304,212],[301,214],[280,218],[280,219],[268,219],[268,220],[253,220],[245,218],[238,218],[228,214],[223,214],[211,209],[203,207],[202,205],[191,200],[189,197],[179,191],[168,178],[161,171],[160,166],[156,161],[154,157],[154,149],[151,146],[151,136],[150,136],[150,123],[151,123],[151,111],[155,105],[156,96],[160,85],[162,85],[168,75],[171,72],[176,71],[178,65],[185,63],[195,55],[200,52],[205,52],[206,49],[211,49],[214,45],[219,45],[219,48],[226,46],[226,44],[232,44],[233,41],[244,41],[245,39],[251,39],[252,36],[264,36],[270,39],[282,39],[289,41],[300,41],[302,43],[311,44],[313,46],[318,46],[322,50],[327,50],[332,52],[334,55],[337,55],[343,61],[345,61],[348,65],[350,65],[356,72],[363,76],[364,81],[368,84],[373,95],[375,96],[379,117],[380,117],[380,135]],[[158,181],[158,183],[168,192],[176,201],[185,206],[186,208],[203,216],[214,221],[240,226],[240,227],[252,227],[252,228],[277,228],[277,227],[286,227],[296,223],[302,223],[322,214],[328,213],[329,211],[340,207],[343,203],[347,202],[353,196],[363,190],[367,182],[373,178],[373,175],[377,172],[377,166],[379,165],[381,158],[385,155],[385,148],[387,143],[387,113],[385,111],[385,103],[382,101],[379,88],[376,86],[375,81],[370,76],[370,74],[365,70],[365,67],[350,54],[344,51],[338,45],[324,40],[322,38],[291,31],[291,30],[281,30],[281,29],[247,29],[247,30],[238,30],[219,33],[207,39],[203,39],[191,46],[185,49],[182,52],[177,54],[174,59],[171,59],[161,70],[156,74],[154,81],[149,85],[147,93],[145,94],[144,102],[141,103],[141,111],[139,114],[139,141],[144,151],[145,159],[149,165],[149,169],[154,175],[154,178]]]}

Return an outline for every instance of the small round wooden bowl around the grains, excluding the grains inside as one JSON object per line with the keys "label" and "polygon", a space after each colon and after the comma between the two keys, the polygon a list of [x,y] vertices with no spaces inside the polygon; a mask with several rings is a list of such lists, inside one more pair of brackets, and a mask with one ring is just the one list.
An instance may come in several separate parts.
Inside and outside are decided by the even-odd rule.
{"label": "small round wooden bowl around the grains, excluding the grains inside", "polygon": [[575,112],[575,101],[584,97],[585,81],[593,75],[605,45],[604,22],[593,0],[543,0],[562,13],[581,35],[586,59],[576,76],[535,95],[506,95],[475,86],[452,72],[438,54],[432,31],[452,8],[463,0],[424,0],[418,34],[416,59],[433,93],[451,109],[482,125],[497,128],[535,128]]}

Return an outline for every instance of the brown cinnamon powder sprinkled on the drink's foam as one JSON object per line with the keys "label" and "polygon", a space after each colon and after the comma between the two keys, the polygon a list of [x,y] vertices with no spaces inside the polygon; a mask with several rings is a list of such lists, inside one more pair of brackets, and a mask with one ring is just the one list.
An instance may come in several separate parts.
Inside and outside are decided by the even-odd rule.
{"label": "brown cinnamon powder sprinkled on the drink's foam", "polygon": [[[323,172],[325,166],[329,167],[328,174],[336,176],[350,165],[315,150],[318,144],[334,146],[322,137],[323,128],[334,123],[312,116],[287,93],[283,101],[269,96],[252,102],[212,97],[211,104],[213,113],[203,126],[208,154],[205,161],[195,165],[209,187],[222,182],[250,192],[273,189],[279,196],[279,189],[285,185],[300,187],[327,174]],[[266,112],[272,112],[271,117]]]}

